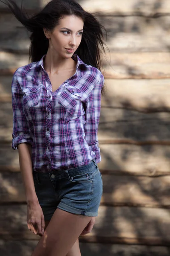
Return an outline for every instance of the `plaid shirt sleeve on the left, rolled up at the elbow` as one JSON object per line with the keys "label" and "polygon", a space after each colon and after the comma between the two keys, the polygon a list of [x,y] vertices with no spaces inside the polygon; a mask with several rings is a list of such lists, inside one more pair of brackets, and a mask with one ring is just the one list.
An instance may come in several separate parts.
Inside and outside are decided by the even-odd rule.
{"label": "plaid shirt sleeve on the left, rolled up at the elbow", "polygon": [[32,145],[28,122],[23,112],[23,92],[17,81],[17,70],[12,79],[11,92],[13,110],[12,148],[16,150],[18,149],[17,145],[20,143],[29,143]]}

